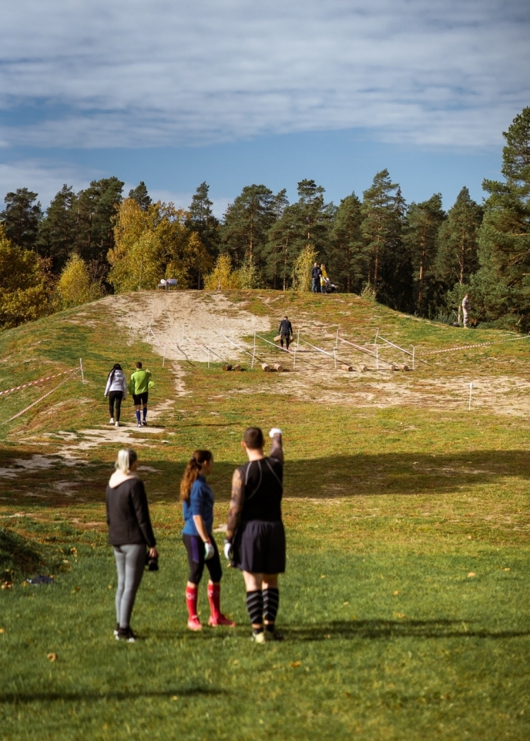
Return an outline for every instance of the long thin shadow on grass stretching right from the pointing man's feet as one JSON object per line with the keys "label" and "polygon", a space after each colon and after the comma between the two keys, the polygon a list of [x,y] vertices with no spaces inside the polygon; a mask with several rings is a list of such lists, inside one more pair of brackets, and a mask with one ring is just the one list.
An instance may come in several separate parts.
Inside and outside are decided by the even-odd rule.
{"label": "long thin shadow on grass stretching right from the pointing man's feet", "polygon": [[528,631],[488,631],[474,629],[473,620],[332,620],[322,625],[285,627],[289,640],[323,641],[328,639],[381,638],[522,638]]}

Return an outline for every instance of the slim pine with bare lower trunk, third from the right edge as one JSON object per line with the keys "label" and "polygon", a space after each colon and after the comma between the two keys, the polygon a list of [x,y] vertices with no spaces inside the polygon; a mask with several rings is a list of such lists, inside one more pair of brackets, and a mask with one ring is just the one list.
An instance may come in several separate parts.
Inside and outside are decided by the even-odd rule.
{"label": "slim pine with bare lower trunk, third from the right edge", "polygon": [[408,245],[414,268],[414,305],[425,316],[435,290],[434,261],[437,255],[438,233],[445,219],[442,196],[434,193],[428,201],[412,202],[407,210],[407,226],[403,239]]}

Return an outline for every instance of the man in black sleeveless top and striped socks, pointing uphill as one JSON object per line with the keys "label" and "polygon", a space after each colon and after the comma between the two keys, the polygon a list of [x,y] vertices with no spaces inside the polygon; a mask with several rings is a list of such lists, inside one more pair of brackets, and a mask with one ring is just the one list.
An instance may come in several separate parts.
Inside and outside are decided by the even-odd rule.
{"label": "man in black sleeveless top and striped socks, pointing uphill", "polygon": [[265,457],[262,431],[245,430],[241,444],[248,463],[233,472],[225,540],[225,556],[243,572],[256,643],[283,639],[275,628],[278,574],[285,571],[282,431],[273,428],[269,435],[271,455]]}

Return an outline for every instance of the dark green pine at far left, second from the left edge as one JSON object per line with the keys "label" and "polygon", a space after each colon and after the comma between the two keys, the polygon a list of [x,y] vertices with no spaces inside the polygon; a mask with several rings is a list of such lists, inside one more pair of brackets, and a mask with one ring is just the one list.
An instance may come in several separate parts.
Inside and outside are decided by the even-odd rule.
{"label": "dark green pine at far left, second from the left edge", "polygon": [[59,272],[77,247],[77,197],[73,187],[63,185],[46,209],[39,227],[39,251],[53,259]]}

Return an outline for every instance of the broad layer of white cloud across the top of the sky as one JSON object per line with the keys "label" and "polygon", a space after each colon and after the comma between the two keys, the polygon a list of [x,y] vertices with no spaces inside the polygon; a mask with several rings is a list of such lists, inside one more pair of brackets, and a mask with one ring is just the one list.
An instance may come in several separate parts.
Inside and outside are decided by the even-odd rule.
{"label": "broad layer of white cloud across the top of the sky", "polygon": [[4,144],[145,147],[360,127],[498,144],[530,103],[522,0],[19,0]]}

